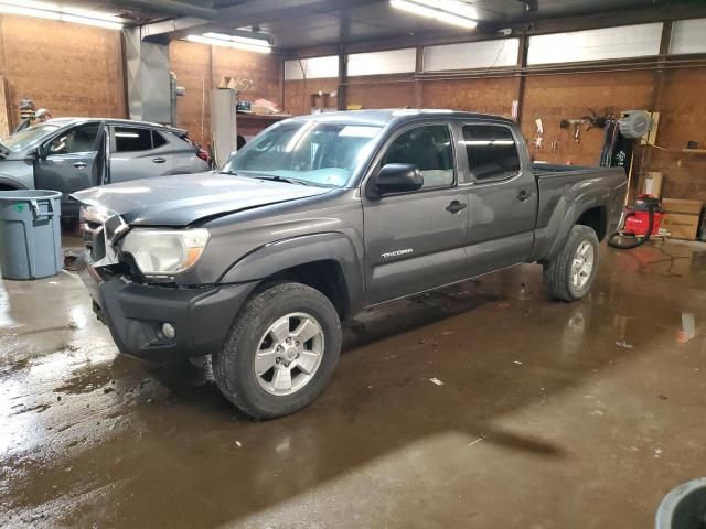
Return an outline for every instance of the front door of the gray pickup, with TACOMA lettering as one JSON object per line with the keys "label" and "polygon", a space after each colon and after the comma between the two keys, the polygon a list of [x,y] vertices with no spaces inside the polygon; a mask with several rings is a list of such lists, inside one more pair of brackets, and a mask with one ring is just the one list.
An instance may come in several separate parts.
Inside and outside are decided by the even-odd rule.
{"label": "front door of the gray pickup, with TACOMA lettering", "polygon": [[468,203],[458,187],[449,126],[404,130],[387,145],[376,170],[387,163],[416,165],[424,186],[363,198],[368,304],[452,283],[464,274]]}

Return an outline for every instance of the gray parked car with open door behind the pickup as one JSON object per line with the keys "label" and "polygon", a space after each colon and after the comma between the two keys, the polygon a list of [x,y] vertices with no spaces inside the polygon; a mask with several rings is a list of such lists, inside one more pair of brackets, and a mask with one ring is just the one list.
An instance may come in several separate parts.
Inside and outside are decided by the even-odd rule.
{"label": "gray parked car with open door behind the pickup", "polygon": [[61,191],[64,216],[78,214],[73,192],[210,166],[185,130],[142,121],[51,119],[0,141],[0,190]]}

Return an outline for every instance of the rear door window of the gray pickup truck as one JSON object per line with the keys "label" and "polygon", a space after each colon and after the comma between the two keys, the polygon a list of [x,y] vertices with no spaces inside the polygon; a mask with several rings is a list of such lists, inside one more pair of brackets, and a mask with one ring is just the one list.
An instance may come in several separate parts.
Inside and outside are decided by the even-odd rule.
{"label": "rear door window of the gray pickup truck", "polygon": [[507,127],[464,125],[468,166],[477,181],[501,180],[520,172],[517,145]]}

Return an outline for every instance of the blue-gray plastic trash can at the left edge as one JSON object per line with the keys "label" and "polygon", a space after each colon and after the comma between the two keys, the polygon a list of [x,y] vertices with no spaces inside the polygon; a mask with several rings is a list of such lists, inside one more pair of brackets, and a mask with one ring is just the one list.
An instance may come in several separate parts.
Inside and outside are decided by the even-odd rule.
{"label": "blue-gray plastic trash can at the left edge", "polygon": [[61,198],[56,191],[0,191],[0,271],[39,279],[62,270]]}

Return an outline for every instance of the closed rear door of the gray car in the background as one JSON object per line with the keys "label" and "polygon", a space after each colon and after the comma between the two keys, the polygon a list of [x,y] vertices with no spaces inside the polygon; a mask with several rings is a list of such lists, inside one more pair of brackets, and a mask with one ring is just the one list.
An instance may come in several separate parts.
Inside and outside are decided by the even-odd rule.
{"label": "closed rear door of the gray car in the background", "polygon": [[149,127],[110,127],[110,181],[113,183],[172,174],[170,143]]}

